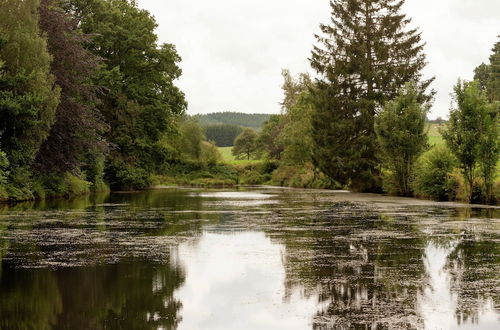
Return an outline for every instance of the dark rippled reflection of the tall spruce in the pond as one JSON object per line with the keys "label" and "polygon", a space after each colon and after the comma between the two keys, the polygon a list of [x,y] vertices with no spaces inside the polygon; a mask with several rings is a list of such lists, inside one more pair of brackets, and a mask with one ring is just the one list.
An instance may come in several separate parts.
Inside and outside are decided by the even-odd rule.
{"label": "dark rippled reflection of the tall spruce in the pond", "polygon": [[286,246],[285,285],[304,285],[306,296],[317,294],[314,329],[421,325],[415,307],[425,277],[425,239],[412,235],[415,223],[355,203],[300,219],[307,229],[290,230],[280,240]]}

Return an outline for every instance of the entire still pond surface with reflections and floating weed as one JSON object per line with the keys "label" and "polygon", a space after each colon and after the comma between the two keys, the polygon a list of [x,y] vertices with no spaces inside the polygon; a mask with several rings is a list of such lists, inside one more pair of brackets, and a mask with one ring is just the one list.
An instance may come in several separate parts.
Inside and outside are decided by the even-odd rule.
{"label": "entire still pond surface with reflections and floating weed", "polygon": [[0,209],[0,329],[499,329],[500,210],[161,189]]}

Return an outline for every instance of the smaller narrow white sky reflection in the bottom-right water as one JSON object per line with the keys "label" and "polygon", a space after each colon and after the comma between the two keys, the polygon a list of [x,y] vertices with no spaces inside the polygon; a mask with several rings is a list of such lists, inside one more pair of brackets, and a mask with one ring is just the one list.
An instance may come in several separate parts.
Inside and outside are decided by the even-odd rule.
{"label": "smaller narrow white sky reflection in the bottom-right water", "polygon": [[458,299],[451,288],[452,278],[446,268],[448,257],[457,245],[457,241],[447,244],[431,242],[425,249],[424,266],[429,276],[429,283],[419,297],[424,327],[429,330],[496,329],[498,314],[494,310],[491,299],[479,307],[480,323],[459,324],[457,321]]}

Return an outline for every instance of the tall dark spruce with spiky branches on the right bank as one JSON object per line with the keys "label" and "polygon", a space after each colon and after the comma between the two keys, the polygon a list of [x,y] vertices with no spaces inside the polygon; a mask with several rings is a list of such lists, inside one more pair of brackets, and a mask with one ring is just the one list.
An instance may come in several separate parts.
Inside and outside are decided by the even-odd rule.
{"label": "tall dark spruce with spiky branches on the right bank", "polygon": [[[316,165],[358,191],[380,188],[374,122],[385,102],[409,81],[425,91],[424,44],[404,0],[333,0],[330,25],[322,24],[311,65],[319,74],[312,90]],[[430,99],[431,95],[422,95]]]}

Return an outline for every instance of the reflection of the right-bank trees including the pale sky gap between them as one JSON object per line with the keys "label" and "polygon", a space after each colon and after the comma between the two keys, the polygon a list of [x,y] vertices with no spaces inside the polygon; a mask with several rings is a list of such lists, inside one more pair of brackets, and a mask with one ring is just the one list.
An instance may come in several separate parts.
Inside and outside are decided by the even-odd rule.
{"label": "reflection of the right-bank trees including the pale sky gap between them", "polygon": [[[338,203],[320,217],[296,215],[302,230],[284,226],[270,235],[286,246],[287,291],[303,286],[305,297],[317,294],[314,329],[455,329],[474,322],[495,329],[498,230],[469,219],[492,215]],[[457,241],[471,226],[482,234]]]}

